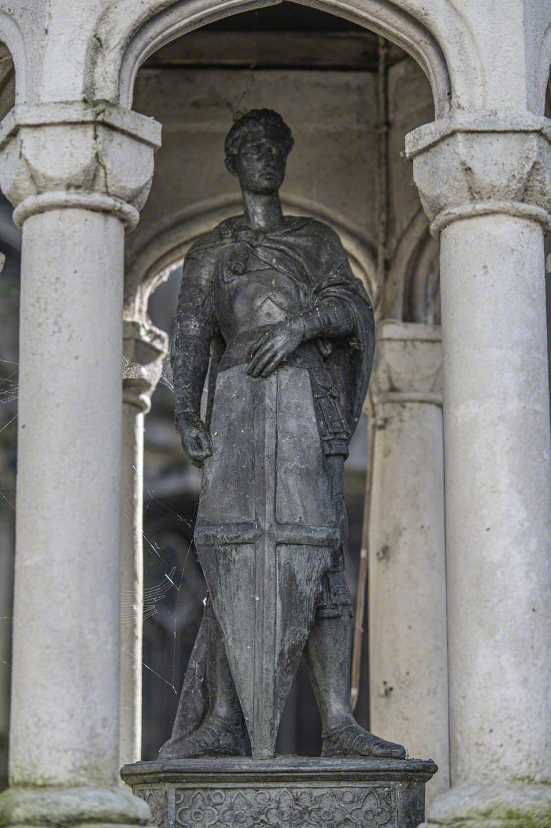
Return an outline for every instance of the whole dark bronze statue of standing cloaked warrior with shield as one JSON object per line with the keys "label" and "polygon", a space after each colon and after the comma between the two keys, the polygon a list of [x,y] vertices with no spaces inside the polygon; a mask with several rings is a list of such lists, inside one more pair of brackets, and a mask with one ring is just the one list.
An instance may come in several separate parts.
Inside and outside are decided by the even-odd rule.
{"label": "whole dark bronze statue of standing cloaked warrior with shield", "polygon": [[[209,599],[161,758],[271,758],[304,652],[323,756],[404,758],[349,704],[343,463],[371,372],[371,302],[327,225],[284,216],[293,146],[268,109],[226,138],[243,215],[189,250],[171,343],[175,417],[203,466],[195,545]],[[205,421],[200,402],[208,373]]]}

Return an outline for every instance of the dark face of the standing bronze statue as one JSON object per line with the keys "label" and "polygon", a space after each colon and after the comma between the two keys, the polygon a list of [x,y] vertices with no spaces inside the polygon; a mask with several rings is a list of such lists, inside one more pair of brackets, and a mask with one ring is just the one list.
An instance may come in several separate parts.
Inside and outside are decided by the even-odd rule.
{"label": "dark face of the standing bronze statue", "polygon": [[280,137],[269,129],[256,129],[242,137],[234,159],[235,174],[243,189],[271,193],[283,183],[286,163]]}

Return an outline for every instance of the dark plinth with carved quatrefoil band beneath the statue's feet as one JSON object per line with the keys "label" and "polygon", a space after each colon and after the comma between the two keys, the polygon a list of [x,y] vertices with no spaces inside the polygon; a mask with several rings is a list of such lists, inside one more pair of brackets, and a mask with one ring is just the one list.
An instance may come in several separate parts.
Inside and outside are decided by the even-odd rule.
{"label": "dark plinth with carved quatrefoil band beneath the statue's feet", "polygon": [[416,828],[420,759],[183,759],[125,765],[121,776],[158,828]]}

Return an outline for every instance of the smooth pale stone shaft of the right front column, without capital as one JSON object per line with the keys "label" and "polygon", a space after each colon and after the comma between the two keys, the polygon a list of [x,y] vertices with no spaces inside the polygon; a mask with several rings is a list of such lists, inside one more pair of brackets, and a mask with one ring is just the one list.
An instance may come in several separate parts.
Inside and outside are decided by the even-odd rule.
{"label": "smooth pale stone shaft of the right front column, without capital", "polygon": [[452,782],[551,779],[551,469],[542,229],[441,235]]}

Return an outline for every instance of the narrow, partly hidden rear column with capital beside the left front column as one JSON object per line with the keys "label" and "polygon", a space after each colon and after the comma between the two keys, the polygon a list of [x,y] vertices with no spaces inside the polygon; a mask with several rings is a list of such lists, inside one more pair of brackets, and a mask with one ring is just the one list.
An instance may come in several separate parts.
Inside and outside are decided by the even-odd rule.
{"label": "narrow, partly hidden rear column with capital beside the left front column", "polygon": [[161,378],[168,337],[151,322],[124,321],[122,370],[121,736],[122,765],[141,759],[143,619],[143,426]]}

